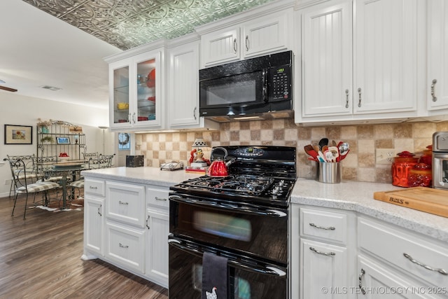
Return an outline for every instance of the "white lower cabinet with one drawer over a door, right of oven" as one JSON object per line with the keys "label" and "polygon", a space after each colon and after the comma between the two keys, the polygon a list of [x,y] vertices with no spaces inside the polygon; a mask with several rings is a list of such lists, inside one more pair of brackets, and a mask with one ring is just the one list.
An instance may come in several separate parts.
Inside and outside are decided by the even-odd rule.
{"label": "white lower cabinet with one drawer over a door, right of oven", "polygon": [[355,216],[292,204],[290,298],[355,298]]}

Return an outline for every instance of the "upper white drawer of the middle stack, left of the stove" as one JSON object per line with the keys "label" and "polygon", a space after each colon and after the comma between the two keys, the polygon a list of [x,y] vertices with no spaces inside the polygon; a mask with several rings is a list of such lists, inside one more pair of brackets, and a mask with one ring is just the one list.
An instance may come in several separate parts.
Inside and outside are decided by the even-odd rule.
{"label": "upper white drawer of the middle stack, left of the stove", "polygon": [[144,227],[144,186],[106,182],[105,206],[106,217]]}

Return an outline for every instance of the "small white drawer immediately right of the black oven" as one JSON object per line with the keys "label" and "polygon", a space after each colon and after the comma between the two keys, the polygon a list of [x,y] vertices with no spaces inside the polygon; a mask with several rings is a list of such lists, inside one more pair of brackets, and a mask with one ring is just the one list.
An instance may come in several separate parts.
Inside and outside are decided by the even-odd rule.
{"label": "small white drawer immediately right of the black oven", "polygon": [[300,236],[346,244],[347,216],[342,213],[300,208]]}

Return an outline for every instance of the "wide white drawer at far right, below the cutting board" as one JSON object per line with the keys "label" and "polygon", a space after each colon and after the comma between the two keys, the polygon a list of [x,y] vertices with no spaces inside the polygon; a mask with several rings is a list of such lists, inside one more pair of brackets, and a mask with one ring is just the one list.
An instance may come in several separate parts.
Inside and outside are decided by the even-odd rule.
{"label": "wide white drawer at far right, below the cutting board", "polygon": [[358,246],[433,286],[448,285],[448,275],[437,272],[444,270],[448,273],[446,244],[439,246],[435,240],[426,241],[423,236],[394,225],[358,218]]}

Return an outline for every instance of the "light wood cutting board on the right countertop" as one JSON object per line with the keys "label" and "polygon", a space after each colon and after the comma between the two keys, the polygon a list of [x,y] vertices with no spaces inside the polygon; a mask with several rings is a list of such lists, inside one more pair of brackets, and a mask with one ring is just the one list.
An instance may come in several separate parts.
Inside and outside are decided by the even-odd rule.
{"label": "light wood cutting board on the right countertop", "polygon": [[373,193],[375,200],[448,217],[448,190],[412,187]]}

